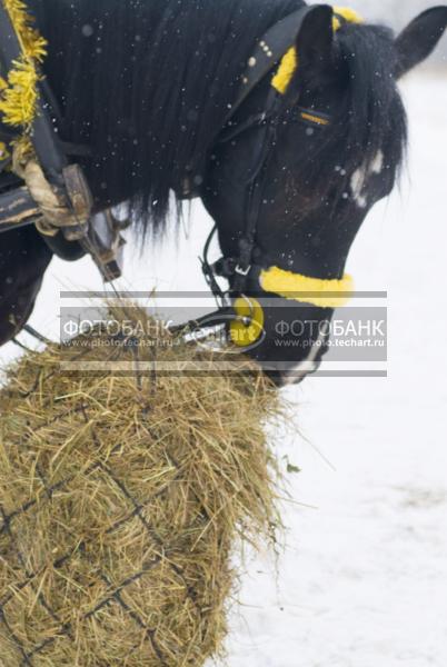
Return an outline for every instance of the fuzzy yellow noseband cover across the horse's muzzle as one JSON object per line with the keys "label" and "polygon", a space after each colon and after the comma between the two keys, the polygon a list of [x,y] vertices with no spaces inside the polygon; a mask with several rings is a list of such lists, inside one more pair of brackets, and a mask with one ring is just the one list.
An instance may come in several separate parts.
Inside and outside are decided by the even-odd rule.
{"label": "fuzzy yellow noseband cover across the horse's muzzle", "polygon": [[259,281],[267,292],[318,308],[346,306],[354,292],[354,280],[348,275],[341,280],[321,280],[270,267],[261,271]]}

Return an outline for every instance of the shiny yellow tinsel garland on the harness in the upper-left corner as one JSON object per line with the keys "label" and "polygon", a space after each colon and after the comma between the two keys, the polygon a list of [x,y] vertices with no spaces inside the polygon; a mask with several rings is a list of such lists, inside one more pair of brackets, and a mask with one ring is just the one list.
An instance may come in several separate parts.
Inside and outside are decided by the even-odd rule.
{"label": "shiny yellow tinsel garland on the harness in the upper-left corner", "polygon": [[0,78],[0,113],[2,122],[29,131],[36,118],[38,64],[46,56],[47,41],[32,26],[27,7],[21,0],[0,0],[7,9],[21,47],[21,57],[14,61],[7,80]]}

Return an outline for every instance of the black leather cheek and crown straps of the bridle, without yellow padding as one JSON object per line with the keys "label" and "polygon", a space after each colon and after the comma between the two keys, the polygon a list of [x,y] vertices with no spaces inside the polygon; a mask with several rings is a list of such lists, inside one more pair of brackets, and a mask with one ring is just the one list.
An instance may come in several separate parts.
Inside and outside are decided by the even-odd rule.
{"label": "black leather cheek and crown straps of the bridle, without yellow padding", "polygon": [[[216,139],[215,146],[222,146],[234,141],[249,130],[258,131],[257,143],[261,146],[256,162],[250,168],[250,177],[245,187],[245,228],[238,241],[236,256],[224,256],[216,262],[209,261],[211,242],[217,235],[217,225],[211,229],[203,247],[201,267],[205,279],[216,298],[217,311],[205,318],[193,321],[196,327],[205,322],[228,323],[229,317],[238,317],[232,303],[235,298],[242,297],[249,302],[249,283],[259,278],[262,269],[262,251],[257,246],[257,231],[260,219],[260,208],[265,186],[265,173],[274,153],[277,137],[278,120],[284,99],[280,92],[272,86],[266,99],[265,108],[260,113],[254,113],[248,118],[235,121],[236,112],[240,110],[255,88],[272,72],[278,62],[295,46],[296,36],[299,32],[306,17],[312,11],[311,7],[302,7],[285,19],[276,23],[260,40],[255,49],[254,56],[248,61],[248,67],[242,76],[239,96],[232,104],[226,119],[224,129]],[[341,17],[342,18],[342,17]],[[299,121],[314,125],[327,126],[330,118],[314,109],[296,107],[296,115],[288,122]],[[200,192],[198,192],[200,195]],[[222,290],[218,279],[225,278],[230,281],[230,289]],[[247,318],[245,322],[248,325]]]}

